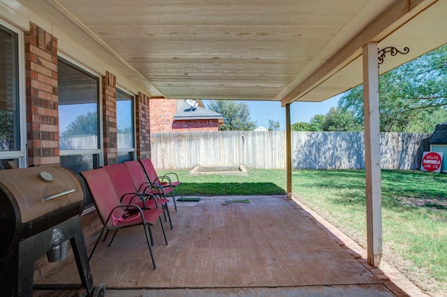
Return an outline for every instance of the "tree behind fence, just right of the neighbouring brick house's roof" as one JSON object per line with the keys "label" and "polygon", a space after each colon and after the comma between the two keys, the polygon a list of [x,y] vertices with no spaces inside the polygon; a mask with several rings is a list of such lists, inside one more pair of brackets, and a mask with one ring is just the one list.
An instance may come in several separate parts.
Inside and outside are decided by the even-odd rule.
{"label": "tree behind fence, just right of the neighbouring brick house's roof", "polygon": [[254,130],[256,121],[250,119],[247,103],[233,100],[211,100],[208,109],[223,116],[225,124],[221,130]]}

